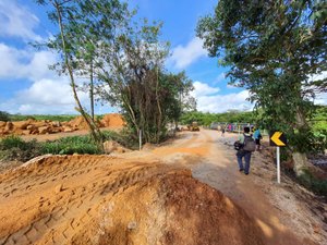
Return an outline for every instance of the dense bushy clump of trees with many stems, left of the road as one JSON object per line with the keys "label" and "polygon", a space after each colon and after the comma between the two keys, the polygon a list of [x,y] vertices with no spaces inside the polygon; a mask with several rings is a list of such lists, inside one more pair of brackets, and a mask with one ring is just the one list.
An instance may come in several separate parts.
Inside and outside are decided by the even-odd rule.
{"label": "dense bushy clump of trees with many stems, left of the road", "polygon": [[121,108],[132,134],[146,143],[159,143],[166,124],[180,115],[179,96],[189,95],[192,83],[184,74],[166,74],[168,44],[159,41],[161,23],[128,24],[114,42],[101,50],[97,77],[101,97]]}

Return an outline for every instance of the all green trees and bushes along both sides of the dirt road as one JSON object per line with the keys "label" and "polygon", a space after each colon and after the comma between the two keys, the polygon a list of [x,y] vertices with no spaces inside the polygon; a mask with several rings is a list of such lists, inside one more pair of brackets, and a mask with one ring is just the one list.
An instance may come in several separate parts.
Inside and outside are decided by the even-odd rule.
{"label": "all green trees and bushes along both sides of the dirt road", "polygon": [[[317,94],[327,91],[323,75],[327,71],[327,12],[323,1],[220,0],[211,14],[198,20],[196,36],[203,39],[204,48],[228,68],[230,84],[247,89],[249,100],[255,103],[254,112],[219,114],[194,112],[192,81],[182,71],[167,71],[169,44],[160,38],[162,23],[137,21],[137,11],[119,0],[37,2],[49,10],[49,20],[58,29],[34,46],[59,53],[51,69],[70,78],[76,111],[90,136],[44,145],[22,143],[12,136],[1,140],[1,154],[14,149],[14,156],[28,159],[34,152],[102,152],[107,136],[94,115],[96,97],[121,109],[126,137],[117,138],[130,148],[140,135],[143,144],[165,140],[169,122],[197,121],[206,126],[211,122],[244,122],[268,132],[281,131],[288,137],[286,154],[294,162],[298,180],[316,185],[310,176],[307,156],[324,154],[327,148],[327,109],[314,103]],[[89,91],[89,111],[77,95],[83,82]],[[70,115],[47,119],[66,121],[64,117]],[[0,113],[0,121],[21,119]],[[27,148],[31,156],[25,154]]]}

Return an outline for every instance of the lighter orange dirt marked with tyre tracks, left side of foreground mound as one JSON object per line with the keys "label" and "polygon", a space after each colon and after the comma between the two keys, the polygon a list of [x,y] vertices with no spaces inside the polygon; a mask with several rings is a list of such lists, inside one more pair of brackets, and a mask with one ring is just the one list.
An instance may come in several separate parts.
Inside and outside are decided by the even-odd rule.
{"label": "lighter orange dirt marked with tyre tracks, left side of foreground mound", "polygon": [[107,156],[65,156],[4,172],[0,244],[66,244],[108,196],[171,169]]}

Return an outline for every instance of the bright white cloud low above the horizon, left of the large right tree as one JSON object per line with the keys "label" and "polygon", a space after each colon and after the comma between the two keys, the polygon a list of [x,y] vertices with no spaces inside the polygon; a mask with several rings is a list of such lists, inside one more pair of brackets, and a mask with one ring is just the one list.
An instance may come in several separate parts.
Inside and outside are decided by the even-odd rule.
{"label": "bright white cloud low above the horizon, left of the large right tree", "polygon": [[205,83],[194,83],[193,96],[197,100],[197,110],[204,112],[225,112],[230,109],[249,111],[253,106],[246,101],[249,91],[217,95],[218,87],[210,87]]}

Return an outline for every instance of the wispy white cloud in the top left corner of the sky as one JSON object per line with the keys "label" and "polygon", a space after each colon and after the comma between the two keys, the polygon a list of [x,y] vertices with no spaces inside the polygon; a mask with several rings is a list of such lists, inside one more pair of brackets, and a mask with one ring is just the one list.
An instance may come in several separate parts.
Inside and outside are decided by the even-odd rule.
{"label": "wispy white cloud in the top left corner of the sky", "polygon": [[0,36],[21,37],[25,41],[41,40],[34,32],[38,24],[38,17],[15,0],[0,1]]}

